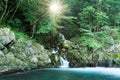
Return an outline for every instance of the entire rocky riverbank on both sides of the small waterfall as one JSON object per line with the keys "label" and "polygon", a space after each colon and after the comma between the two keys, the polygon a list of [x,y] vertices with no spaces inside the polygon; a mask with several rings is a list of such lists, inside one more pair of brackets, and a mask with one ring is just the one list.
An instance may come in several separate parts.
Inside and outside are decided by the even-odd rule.
{"label": "entire rocky riverbank on both sides of the small waterfall", "polygon": [[[0,29],[0,73],[16,73],[39,68],[59,67],[66,61],[69,67],[119,67],[120,44],[109,44],[108,47],[90,47],[79,43],[74,37],[61,39],[52,50],[26,38],[9,28]],[[78,41],[77,41],[78,40]],[[62,66],[62,65],[61,65]]]}

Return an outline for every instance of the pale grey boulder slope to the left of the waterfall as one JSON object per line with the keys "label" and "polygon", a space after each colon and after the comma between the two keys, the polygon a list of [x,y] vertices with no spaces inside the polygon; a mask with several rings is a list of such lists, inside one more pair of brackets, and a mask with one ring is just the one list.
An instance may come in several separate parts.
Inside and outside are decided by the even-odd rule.
{"label": "pale grey boulder slope to the left of the waterfall", "polygon": [[16,38],[8,28],[0,28],[0,71],[48,67],[50,53],[23,37]]}

